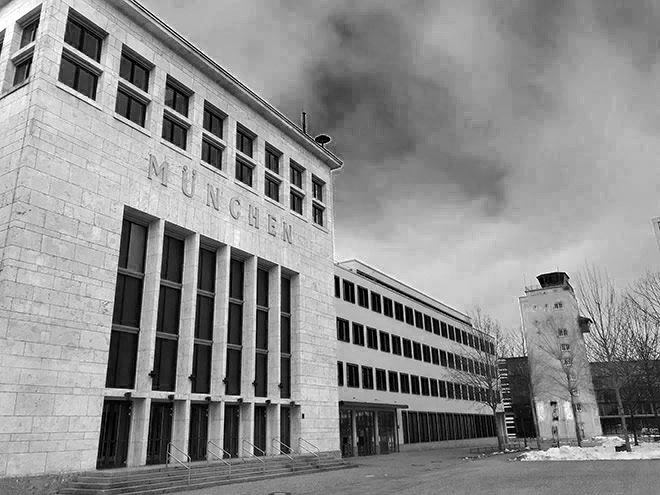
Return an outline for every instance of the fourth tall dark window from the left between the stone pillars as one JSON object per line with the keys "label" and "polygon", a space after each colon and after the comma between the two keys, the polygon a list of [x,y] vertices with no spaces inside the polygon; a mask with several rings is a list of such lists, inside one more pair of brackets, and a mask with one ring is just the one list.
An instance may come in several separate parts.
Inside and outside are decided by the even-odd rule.
{"label": "fourth tall dark window from the left between the stone pillars", "polygon": [[229,324],[227,329],[227,372],[225,394],[241,393],[243,351],[243,277],[245,265],[232,259],[229,269]]}

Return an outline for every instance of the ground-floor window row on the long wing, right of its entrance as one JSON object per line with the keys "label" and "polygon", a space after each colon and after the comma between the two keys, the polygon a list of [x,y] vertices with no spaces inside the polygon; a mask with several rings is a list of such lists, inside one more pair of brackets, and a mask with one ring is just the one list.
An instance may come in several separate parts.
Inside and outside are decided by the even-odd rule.
{"label": "ground-floor window row on the long wing, right of its entrance", "polygon": [[494,437],[493,416],[436,412],[401,412],[403,443],[441,442]]}

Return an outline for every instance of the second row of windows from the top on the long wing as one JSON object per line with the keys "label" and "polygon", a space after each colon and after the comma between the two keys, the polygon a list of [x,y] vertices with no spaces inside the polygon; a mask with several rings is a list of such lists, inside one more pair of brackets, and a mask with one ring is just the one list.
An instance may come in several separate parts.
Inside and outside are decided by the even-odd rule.
{"label": "second row of windows from the top on the long wing", "polygon": [[493,364],[460,356],[382,330],[379,331],[373,327],[365,327],[360,323],[350,322],[343,318],[337,318],[337,340],[346,343],[352,341],[354,345],[362,347],[366,344],[369,349],[380,349],[382,352],[391,352],[397,356],[481,376],[496,376],[497,372],[496,366]]}

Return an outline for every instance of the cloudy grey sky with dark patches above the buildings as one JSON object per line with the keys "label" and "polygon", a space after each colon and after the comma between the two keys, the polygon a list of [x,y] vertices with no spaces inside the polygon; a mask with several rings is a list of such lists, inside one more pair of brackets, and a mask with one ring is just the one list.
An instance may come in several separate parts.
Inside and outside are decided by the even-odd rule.
{"label": "cloudy grey sky with dark patches above the buildings", "polygon": [[332,136],[337,260],[505,328],[540,273],[660,269],[654,0],[142,2]]}

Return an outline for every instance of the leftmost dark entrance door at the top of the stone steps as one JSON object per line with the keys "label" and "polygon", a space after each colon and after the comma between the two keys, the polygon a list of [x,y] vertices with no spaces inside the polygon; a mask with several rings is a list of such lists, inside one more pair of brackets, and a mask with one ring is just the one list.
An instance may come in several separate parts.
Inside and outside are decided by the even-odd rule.
{"label": "leftmost dark entrance door at the top of the stone steps", "polygon": [[130,423],[131,403],[129,401],[106,400],[104,402],[96,469],[126,466]]}

